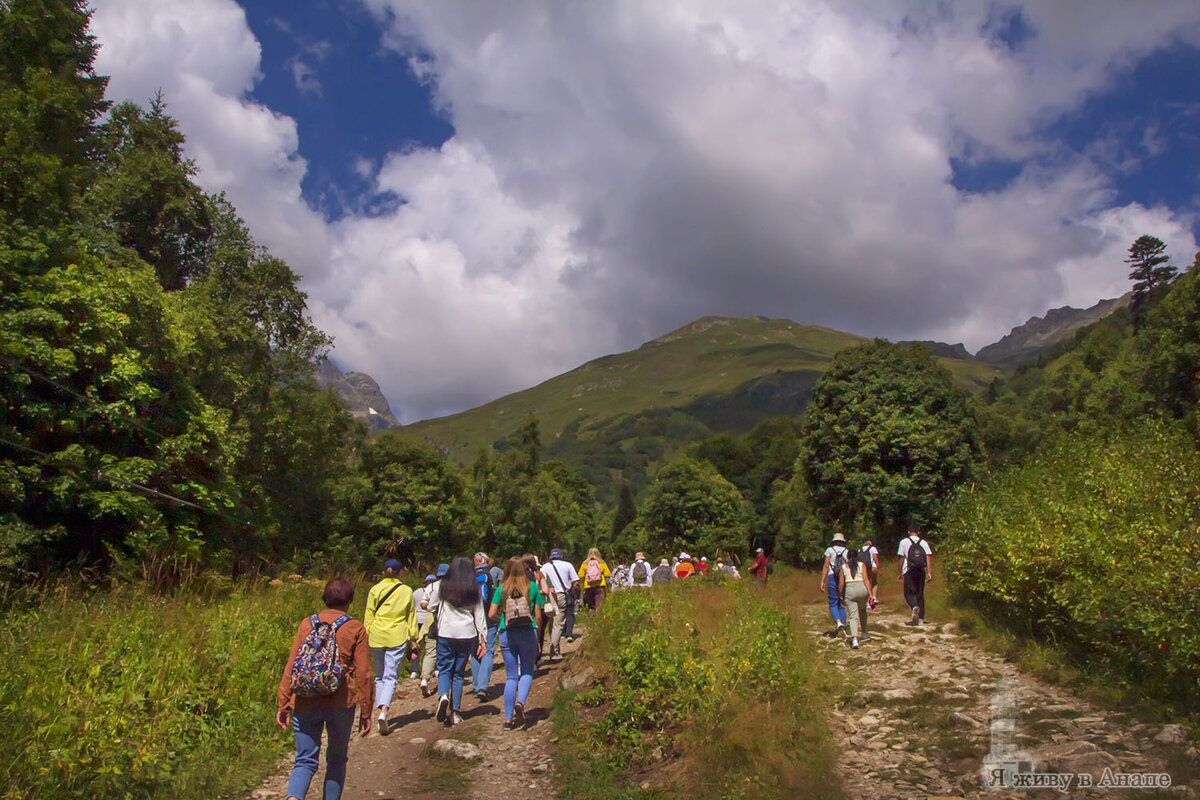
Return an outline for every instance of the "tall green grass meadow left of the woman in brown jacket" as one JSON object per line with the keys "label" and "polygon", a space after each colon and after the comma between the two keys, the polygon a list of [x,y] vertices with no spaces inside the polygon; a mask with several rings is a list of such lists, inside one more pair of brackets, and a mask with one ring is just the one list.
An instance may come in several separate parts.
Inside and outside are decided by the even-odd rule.
{"label": "tall green grass meadow left of the woman in brown jacket", "polygon": [[64,585],[8,610],[2,798],[236,795],[288,747],[275,691],[320,591],[301,582],[173,596]]}

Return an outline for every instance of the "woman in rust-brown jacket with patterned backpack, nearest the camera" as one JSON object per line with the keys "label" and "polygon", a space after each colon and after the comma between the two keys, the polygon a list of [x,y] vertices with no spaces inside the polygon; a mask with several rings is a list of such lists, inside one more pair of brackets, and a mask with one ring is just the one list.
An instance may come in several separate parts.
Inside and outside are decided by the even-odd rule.
{"label": "woman in rust-brown jacket with patterned backpack, nearest the camera", "polygon": [[[288,777],[289,800],[300,800],[308,792],[319,763],[322,730],[328,735],[326,800],[341,796],[346,783],[355,706],[359,709],[359,733],[364,736],[371,733],[374,676],[367,630],[349,615],[354,587],[346,578],[334,578],[325,584],[322,600],[325,609],[300,620],[296,627],[276,697],[275,722],[284,730],[290,724],[296,742],[295,766]],[[331,648],[336,649],[336,664],[342,670],[332,679],[320,669],[322,656]]]}

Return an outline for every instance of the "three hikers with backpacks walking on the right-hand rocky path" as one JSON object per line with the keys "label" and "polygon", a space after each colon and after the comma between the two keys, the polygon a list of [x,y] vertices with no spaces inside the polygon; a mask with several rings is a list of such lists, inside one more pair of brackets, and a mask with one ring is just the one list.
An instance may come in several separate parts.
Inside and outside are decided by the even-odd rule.
{"label": "three hikers with backpacks walking on the right-hand rocky path", "polygon": [[[917,530],[900,540],[899,579],[904,585],[904,599],[912,616],[905,625],[925,624],[925,583],[934,579],[934,549]],[[869,639],[866,610],[875,608],[878,600],[880,551],[870,539],[858,549],[846,545],[846,537],[834,534],[833,543],[826,548],[824,565],[821,567],[821,591],[829,599],[829,614],[835,624],[830,636],[850,633],[850,646]]]}

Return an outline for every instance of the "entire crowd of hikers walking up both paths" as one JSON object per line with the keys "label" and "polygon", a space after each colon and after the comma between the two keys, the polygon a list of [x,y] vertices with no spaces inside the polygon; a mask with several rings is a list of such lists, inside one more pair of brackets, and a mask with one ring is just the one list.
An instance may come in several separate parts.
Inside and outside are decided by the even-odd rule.
{"label": "entire crowd of hikers walking up both paths", "polygon": [[[924,622],[924,584],[932,579],[932,551],[913,531],[900,542],[900,577],[912,608],[907,625]],[[875,607],[878,549],[866,541],[850,549],[836,534],[824,553],[821,588],[829,597],[836,622],[833,636],[850,625],[850,643],[866,639],[866,608]],[[766,585],[773,565],[757,548],[749,573]],[[462,722],[467,668],[470,691],[479,703],[491,699],[490,685],[497,646],[504,662],[503,729],[526,724],[528,700],[538,663],[562,657],[562,642],[574,642],[580,604],[595,610],[610,591],[647,588],[696,576],[739,579],[725,558],[710,565],[707,557],[686,552],[652,566],[644,553],[631,564],[610,569],[598,548],[588,551],[578,569],[554,548],[541,563],[524,553],[500,569],[486,553],[457,555],[412,589],[401,581],[402,565],[384,564],[383,575],[367,594],[362,621],[350,616],[354,585],[330,581],[322,600],[325,609],[300,621],[280,680],[276,722],[295,735],[295,765],[288,780],[289,800],[300,800],[317,772],[322,735],[326,736],[325,800],[341,796],[347,753],[359,711],[359,732],[382,735],[392,730],[390,711],[396,687],[407,672],[420,680],[422,697],[437,694],[434,717],[452,727]],[[548,651],[546,648],[548,639]],[[436,685],[432,682],[437,679]]]}

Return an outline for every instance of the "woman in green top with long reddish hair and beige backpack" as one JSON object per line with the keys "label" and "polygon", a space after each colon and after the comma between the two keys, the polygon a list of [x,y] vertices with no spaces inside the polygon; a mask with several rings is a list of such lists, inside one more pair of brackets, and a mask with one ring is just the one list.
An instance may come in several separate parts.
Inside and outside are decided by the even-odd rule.
{"label": "woman in green top with long reddish hair and beige backpack", "polygon": [[546,599],[529,581],[522,558],[509,559],[504,581],[492,595],[487,615],[500,620],[504,656],[504,729],[524,724],[524,702],[538,667],[538,625]]}

